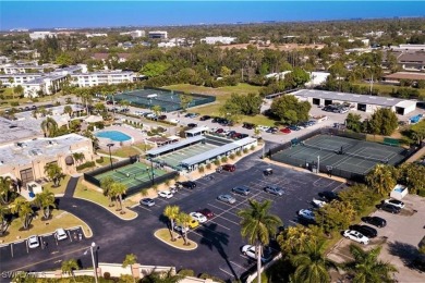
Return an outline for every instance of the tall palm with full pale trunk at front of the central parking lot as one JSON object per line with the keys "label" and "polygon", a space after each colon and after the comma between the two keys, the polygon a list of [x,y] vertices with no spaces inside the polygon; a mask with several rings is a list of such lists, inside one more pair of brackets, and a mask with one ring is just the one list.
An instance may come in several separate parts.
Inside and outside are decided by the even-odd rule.
{"label": "tall palm with full pale trunk at front of the central parking lot", "polygon": [[242,209],[238,212],[241,220],[241,235],[246,237],[250,245],[255,245],[257,255],[257,280],[262,282],[262,250],[263,246],[268,245],[270,236],[276,234],[277,227],[282,225],[278,216],[269,214],[271,202],[265,200],[258,202],[248,199],[250,208]]}

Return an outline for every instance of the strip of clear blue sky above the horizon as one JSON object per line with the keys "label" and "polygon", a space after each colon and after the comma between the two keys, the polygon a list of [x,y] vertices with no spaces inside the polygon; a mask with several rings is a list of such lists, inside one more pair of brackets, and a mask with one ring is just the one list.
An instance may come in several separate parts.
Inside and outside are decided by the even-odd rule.
{"label": "strip of clear blue sky above the horizon", "polygon": [[425,16],[424,1],[3,1],[0,28]]}

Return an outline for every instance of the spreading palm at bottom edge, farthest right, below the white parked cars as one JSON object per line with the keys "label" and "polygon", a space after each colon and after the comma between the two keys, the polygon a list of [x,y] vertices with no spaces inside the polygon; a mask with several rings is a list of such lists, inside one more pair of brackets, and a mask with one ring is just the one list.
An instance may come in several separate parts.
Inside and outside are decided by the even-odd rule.
{"label": "spreading palm at bottom edge, farthest right, below the white parked cars", "polygon": [[350,253],[354,260],[343,264],[343,269],[353,274],[354,283],[393,282],[390,276],[397,268],[389,262],[378,260],[381,247],[364,251],[356,245],[350,245]]}

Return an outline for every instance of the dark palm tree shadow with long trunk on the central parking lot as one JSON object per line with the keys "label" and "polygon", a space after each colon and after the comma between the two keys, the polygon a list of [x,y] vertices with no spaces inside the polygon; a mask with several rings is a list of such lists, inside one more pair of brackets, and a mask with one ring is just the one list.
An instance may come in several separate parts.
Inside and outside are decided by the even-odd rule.
{"label": "dark palm tree shadow with long trunk on the central parking lot", "polygon": [[232,264],[230,263],[229,257],[224,251],[224,246],[229,245],[229,235],[217,231],[217,224],[208,223],[204,225],[205,229],[199,229],[198,232],[203,237],[201,239],[202,245],[206,245],[210,250],[217,249],[218,254],[226,260],[230,271],[232,272],[235,280],[239,279]]}

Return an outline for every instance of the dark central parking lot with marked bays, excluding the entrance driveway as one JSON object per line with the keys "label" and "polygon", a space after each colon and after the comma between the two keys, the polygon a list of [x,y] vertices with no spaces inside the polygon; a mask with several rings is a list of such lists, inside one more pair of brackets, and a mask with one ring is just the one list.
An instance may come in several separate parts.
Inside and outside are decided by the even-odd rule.
{"label": "dark central parking lot with marked bays, excluding the entrance driveway", "polygon": [[[274,169],[274,174],[265,176],[263,171],[270,167]],[[269,165],[254,158],[238,163],[236,172],[223,171],[210,176],[212,179],[197,180],[197,187],[194,189],[180,189],[173,198],[157,198],[154,207],[137,206],[134,210],[142,214],[142,219],[162,219],[165,223],[167,220],[161,218],[161,214],[167,205],[178,205],[187,213],[203,208],[211,210],[215,217],[189,233],[189,238],[195,241],[198,248],[191,253],[192,256],[181,257],[180,264],[197,272],[204,271],[228,280],[240,278],[255,264],[240,250],[247,243],[240,235],[241,219],[238,211],[248,207],[248,198],[257,201],[271,200],[270,212],[278,214],[284,225],[294,225],[298,223],[296,211],[311,208],[311,200],[317,197],[319,192],[342,187],[340,182]],[[264,187],[270,184],[282,187],[284,194],[276,196],[264,192]],[[231,193],[231,188],[236,185],[247,186],[251,189],[248,196]],[[231,194],[236,201],[232,205],[222,202],[217,199],[220,194]],[[163,227],[165,223],[158,221],[157,227]],[[208,259],[208,262],[216,262],[216,264],[204,266],[201,260],[204,257]]]}

